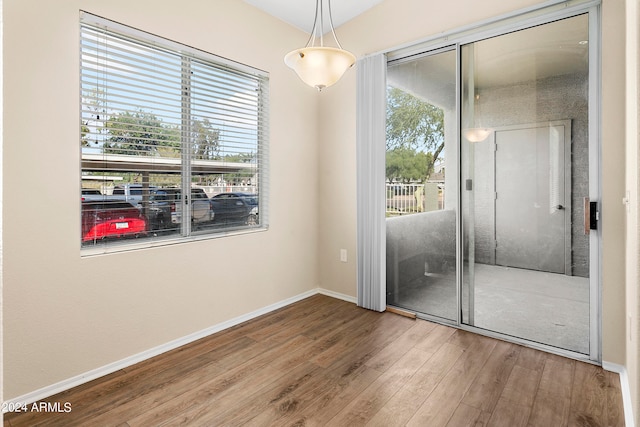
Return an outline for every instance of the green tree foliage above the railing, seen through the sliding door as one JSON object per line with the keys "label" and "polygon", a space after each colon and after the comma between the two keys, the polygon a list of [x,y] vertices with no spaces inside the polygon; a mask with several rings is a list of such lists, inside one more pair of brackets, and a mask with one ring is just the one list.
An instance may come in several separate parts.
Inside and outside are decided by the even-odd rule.
{"label": "green tree foliage above the railing, seen through the sliding door", "polygon": [[[444,149],[444,110],[389,87],[386,138],[387,179],[426,179]],[[422,171],[418,173],[417,167]]]}

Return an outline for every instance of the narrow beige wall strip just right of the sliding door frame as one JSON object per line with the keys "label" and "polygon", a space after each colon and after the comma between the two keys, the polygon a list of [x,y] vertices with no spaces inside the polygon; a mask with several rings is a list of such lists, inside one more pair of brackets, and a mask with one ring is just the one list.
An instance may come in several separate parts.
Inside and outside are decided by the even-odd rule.
{"label": "narrow beige wall strip just right of the sliding door frame", "polygon": [[624,2],[602,4],[602,347],[603,360],[627,365],[625,313]]}

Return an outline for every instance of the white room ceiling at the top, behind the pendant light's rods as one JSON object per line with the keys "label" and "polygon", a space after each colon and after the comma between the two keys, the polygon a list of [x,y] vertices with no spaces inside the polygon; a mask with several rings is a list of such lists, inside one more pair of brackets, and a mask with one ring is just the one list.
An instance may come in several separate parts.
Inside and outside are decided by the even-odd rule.
{"label": "white room ceiling at the top, behind the pendant light's rods", "polygon": [[[311,33],[315,17],[316,0],[244,0],[252,6],[285,21],[307,33]],[[324,2],[325,31],[329,31],[328,7],[329,0]],[[355,18],[362,12],[372,8],[383,0],[333,0],[331,2],[331,16],[333,26],[338,28],[345,22]]]}

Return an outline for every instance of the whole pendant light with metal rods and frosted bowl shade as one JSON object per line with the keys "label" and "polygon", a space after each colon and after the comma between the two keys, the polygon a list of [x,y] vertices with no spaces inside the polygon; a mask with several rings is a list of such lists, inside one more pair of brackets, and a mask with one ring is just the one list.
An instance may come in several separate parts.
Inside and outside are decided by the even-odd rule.
{"label": "whole pendant light with metal rods and frosted bowl shade", "polygon": [[[342,75],[355,62],[356,57],[340,45],[333,29],[333,19],[331,18],[331,0],[327,1],[329,10],[329,26],[331,34],[335,40],[336,47],[324,45],[324,13],[323,0],[316,0],[316,16],[313,21],[313,29],[305,47],[295,49],[284,57],[284,62],[292,68],[303,82],[321,91],[329,87],[342,77]],[[318,17],[320,25],[318,26]],[[316,46],[316,40],[319,45]]]}

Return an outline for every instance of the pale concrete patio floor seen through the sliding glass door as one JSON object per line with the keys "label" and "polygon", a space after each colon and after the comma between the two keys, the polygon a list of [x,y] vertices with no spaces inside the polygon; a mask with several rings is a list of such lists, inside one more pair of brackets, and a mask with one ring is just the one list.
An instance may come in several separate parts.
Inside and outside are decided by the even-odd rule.
{"label": "pale concrete patio floor seen through the sliding glass door", "polygon": [[[475,265],[473,326],[589,353],[589,279],[495,265]],[[469,322],[469,269],[462,317]],[[429,274],[387,294],[387,304],[455,320],[455,271]]]}

